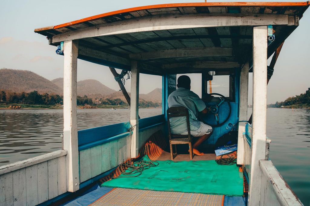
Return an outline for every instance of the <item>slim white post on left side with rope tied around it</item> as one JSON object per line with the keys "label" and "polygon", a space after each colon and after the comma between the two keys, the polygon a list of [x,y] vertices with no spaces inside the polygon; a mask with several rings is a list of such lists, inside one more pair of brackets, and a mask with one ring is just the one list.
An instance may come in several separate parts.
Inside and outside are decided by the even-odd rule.
{"label": "slim white post on left side with rope tied around it", "polygon": [[133,126],[131,135],[131,158],[135,158],[139,155],[139,68],[137,61],[131,62],[130,98],[130,124]]}

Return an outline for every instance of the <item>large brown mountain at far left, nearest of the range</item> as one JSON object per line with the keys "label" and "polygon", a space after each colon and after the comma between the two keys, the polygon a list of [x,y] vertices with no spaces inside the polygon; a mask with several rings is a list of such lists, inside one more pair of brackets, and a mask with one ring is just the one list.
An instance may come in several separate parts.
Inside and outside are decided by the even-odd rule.
{"label": "large brown mountain at far left, nearest of the range", "polygon": [[40,75],[16,69],[0,69],[0,90],[13,92],[38,91],[40,94],[63,94],[62,87],[58,87]]}

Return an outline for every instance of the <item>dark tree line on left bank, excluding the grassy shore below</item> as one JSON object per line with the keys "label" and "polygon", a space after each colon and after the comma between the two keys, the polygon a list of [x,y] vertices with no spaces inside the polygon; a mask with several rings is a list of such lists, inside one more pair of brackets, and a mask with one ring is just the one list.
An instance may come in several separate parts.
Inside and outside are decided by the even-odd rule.
{"label": "dark tree line on left bank, excluding the grassy shore below", "polygon": [[[101,103],[96,105],[115,105],[115,106],[129,106],[128,103],[122,99],[103,99],[97,98]],[[0,91],[0,104],[29,104],[29,105],[62,105],[64,97],[58,94],[39,94],[38,91],[33,92],[11,92],[11,91]],[[77,105],[95,105],[92,98],[84,95],[83,97],[77,96]],[[154,103],[151,101],[140,100],[140,107],[160,107],[161,103]]]}

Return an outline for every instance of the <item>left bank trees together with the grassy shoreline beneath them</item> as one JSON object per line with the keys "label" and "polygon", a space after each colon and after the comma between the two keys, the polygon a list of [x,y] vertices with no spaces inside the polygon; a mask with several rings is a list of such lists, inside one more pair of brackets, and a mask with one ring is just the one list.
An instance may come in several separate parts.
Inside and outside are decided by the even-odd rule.
{"label": "left bank trees together with the grassy shoreline beneath them", "polygon": [[[14,106],[20,106],[15,108]],[[10,108],[9,108],[10,107]],[[14,107],[14,108],[13,108]],[[77,108],[128,108],[128,103],[122,99],[108,98],[88,98],[77,96]],[[139,108],[160,108],[162,103],[139,100]],[[7,92],[0,91],[0,109],[61,109],[63,108],[63,96],[58,94],[39,94],[38,91],[33,92]]]}

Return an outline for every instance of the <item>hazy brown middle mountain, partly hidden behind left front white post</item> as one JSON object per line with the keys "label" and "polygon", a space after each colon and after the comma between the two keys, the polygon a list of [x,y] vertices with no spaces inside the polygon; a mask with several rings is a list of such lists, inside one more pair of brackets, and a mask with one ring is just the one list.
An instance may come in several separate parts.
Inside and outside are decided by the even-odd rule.
{"label": "hazy brown middle mountain, partly hidden behind left front white post", "polygon": [[[64,86],[64,78],[57,78],[52,80],[55,85],[59,87]],[[77,83],[78,96],[86,95],[90,98],[101,98],[116,92],[115,90],[103,85],[100,81],[94,79],[87,79],[78,81]]]}

